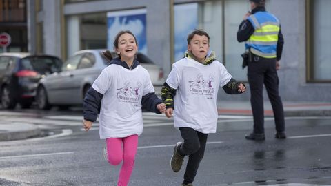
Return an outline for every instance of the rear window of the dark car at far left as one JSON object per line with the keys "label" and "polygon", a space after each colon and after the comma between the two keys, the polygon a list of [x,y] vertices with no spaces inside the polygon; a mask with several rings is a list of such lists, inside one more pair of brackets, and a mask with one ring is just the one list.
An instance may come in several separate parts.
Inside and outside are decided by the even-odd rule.
{"label": "rear window of the dark car at far left", "polygon": [[39,74],[52,74],[61,70],[61,60],[50,56],[32,56],[22,59],[21,70],[33,70]]}

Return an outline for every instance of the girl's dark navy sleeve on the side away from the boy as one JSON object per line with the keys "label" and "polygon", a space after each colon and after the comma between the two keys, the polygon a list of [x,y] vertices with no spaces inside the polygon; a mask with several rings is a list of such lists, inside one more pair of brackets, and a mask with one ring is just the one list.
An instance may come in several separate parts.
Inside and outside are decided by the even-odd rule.
{"label": "girl's dark navy sleeve on the side away from the boy", "polygon": [[86,92],[83,100],[83,117],[87,121],[96,121],[100,111],[100,103],[103,94],[97,92],[92,87]]}

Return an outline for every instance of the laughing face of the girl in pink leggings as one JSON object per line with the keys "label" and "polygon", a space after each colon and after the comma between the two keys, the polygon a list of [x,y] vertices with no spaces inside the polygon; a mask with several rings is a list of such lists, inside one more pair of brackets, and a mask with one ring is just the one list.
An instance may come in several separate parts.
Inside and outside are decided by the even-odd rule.
{"label": "laughing face of the girl in pink leggings", "polygon": [[134,59],[138,46],[136,40],[131,34],[125,33],[119,37],[119,45],[116,49],[117,54],[121,54],[121,60],[127,61]]}

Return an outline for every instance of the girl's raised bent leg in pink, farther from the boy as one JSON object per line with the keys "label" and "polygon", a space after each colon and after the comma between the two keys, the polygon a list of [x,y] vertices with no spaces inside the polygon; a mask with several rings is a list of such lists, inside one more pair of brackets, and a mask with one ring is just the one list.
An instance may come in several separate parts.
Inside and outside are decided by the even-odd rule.
{"label": "girl's raised bent leg in pink, farther from the boy", "polygon": [[122,138],[107,138],[107,155],[110,165],[119,165],[123,159]]}

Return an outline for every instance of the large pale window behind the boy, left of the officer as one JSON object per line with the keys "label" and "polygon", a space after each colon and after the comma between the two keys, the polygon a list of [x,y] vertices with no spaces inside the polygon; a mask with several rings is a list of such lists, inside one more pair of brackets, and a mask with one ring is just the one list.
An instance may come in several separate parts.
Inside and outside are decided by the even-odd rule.
{"label": "large pale window behind the boy, left of the officer", "polygon": [[[183,58],[187,48],[186,38],[194,28],[203,29],[210,35],[210,50],[237,80],[247,81],[246,69],[241,68],[244,43],[238,43],[237,30],[248,12],[248,1],[222,0],[174,6],[174,59]],[[188,17],[187,12],[190,12]]]}

